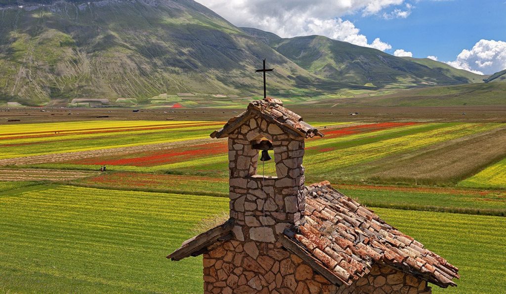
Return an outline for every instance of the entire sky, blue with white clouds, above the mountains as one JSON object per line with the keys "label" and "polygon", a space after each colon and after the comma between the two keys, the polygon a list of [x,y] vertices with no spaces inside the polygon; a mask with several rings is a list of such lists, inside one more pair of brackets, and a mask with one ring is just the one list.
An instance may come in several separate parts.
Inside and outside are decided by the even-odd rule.
{"label": "entire sky, blue with white clouds, above the mountains", "polygon": [[323,35],[481,74],[506,69],[506,0],[197,0],[236,26]]}

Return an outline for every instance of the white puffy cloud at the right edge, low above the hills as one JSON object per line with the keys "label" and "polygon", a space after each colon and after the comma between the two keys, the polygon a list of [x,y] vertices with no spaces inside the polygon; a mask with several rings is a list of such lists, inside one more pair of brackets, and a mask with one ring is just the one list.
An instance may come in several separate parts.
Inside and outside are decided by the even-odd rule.
{"label": "white puffy cloud at the right edge, low above the hills", "polygon": [[471,50],[464,49],[447,64],[477,74],[493,74],[506,69],[506,42],[479,40]]}

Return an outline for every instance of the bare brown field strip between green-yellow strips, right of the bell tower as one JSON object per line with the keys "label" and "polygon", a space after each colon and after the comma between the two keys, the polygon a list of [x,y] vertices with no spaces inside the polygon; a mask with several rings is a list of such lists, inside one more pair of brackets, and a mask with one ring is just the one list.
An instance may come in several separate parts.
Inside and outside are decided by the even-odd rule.
{"label": "bare brown field strip between green-yellow strips, right of the bell tower", "polygon": [[370,177],[383,182],[405,179],[414,184],[415,179],[418,184],[456,183],[504,157],[506,126],[386,157],[368,164],[367,168],[374,171]]}

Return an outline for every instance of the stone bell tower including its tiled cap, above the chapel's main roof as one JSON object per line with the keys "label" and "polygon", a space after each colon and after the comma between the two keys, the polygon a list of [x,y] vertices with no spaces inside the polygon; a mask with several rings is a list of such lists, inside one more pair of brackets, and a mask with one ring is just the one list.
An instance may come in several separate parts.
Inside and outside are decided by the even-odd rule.
{"label": "stone bell tower including its tiled cap, above the chapel's main roof", "polygon": [[[298,226],[305,210],[304,139],[315,130],[282,107],[279,100],[249,104],[212,137],[228,137],[230,218],[239,240],[274,243],[290,225]],[[316,131],[315,131],[316,133]],[[258,173],[259,153],[272,150],[276,176]]]}

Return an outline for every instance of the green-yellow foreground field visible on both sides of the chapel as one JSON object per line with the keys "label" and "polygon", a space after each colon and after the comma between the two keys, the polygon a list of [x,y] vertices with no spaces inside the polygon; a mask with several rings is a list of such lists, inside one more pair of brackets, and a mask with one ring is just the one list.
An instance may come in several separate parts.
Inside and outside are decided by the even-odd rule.
{"label": "green-yellow foreground field visible on both sides of the chapel", "polygon": [[[226,198],[75,186],[0,197],[0,289],[6,292],[199,292],[201,259],[165,256]],[[506,285],[502,217],[375,209],[460,268],[445,292]],[[438,290],[435,288],[435,290]]]}

